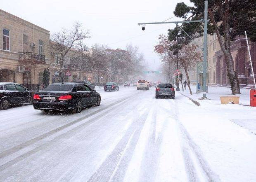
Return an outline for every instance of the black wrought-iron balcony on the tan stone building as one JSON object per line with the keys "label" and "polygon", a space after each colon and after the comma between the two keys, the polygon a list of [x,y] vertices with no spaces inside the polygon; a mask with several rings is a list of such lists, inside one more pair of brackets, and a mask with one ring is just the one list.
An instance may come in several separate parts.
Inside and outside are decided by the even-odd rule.
{"label": "black wrought-iron balcony on the tan stone building", "polygon": [[33,52],[19,52],[19,62],[29,64],[45,64],[45,55]]}

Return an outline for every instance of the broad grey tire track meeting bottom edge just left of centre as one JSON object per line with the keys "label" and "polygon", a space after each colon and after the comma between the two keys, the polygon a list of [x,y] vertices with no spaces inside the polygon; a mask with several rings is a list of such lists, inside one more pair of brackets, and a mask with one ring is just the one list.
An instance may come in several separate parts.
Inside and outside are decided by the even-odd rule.
{"label": "broad grey tire track meeting bottom edge just left of centre", "polygon": [[[145,124],[148,114],[147,109],[137,120],[135,120],[127,129],[123,138],[118,142],[113,152],[107,157],[97,171],[90,177],[88,181],[109,181],[114,171],[114,179],[119,180],[123,178],[128,167],[128,161],[132,158],[133,151],[136,147],[137,141],[140,138],[140,133]],[[130,144],[130,145],[129,145]],[[119,167],[121,173],[119,173]]]}

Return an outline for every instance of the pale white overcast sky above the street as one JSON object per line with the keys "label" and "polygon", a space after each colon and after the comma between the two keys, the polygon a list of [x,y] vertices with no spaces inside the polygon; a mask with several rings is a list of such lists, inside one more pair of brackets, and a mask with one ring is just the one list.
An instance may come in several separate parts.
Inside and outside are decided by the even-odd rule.
{"label": "pale white overcast sky above the street", "polygon": [[[154,52],[159,34],[167,35],[174,24],[147,25],[141,30],[140,22],[164,21],[173,17],[177,2],[189,0],[2,0],[0,8],[26,21],[55,33],[70,28],[74,21],[90,30],[86,42],[108,44],[111,49],[125,49],[128,43],[137,45],[152,70],[160,60]],[[179,20],[176,17],[168,21]],[[150,69],[149,68],[149,69]]]}

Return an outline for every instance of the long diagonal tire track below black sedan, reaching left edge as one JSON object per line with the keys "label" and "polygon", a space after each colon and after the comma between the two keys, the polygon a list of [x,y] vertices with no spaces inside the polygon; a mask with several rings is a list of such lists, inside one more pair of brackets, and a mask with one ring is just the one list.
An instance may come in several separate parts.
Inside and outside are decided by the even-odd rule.
{"label": "long diagonal tire track below black sedan, reaching left edge", "polygon": [[[142,93],[142,92],[140,92],[140,93]],[[133,94],[133,95],[128,96],[128,97],[125,97],[125,98],[122,98],[122,99],[120,99],[120,100],[118,100],[118,101],[116,101],[116,102],[114,102],[114,103],[111,103],[110,105],[107,105],[107,106],[105,106],[105,107],[102,107],[102,108],[100,108],[100,109],[94,111],[94,112],[91,112],[90,114],[86,114],[86,115],[84,115],[83,117],[80,117],[80,118],[78,118],[78,119],[75,119],[75,120],[69,122],[68,124],[65,124],[65,125],[63,125],[63,126],[60,126],[60,127],[58,127],[58,128],[55,128],[55,129],[53,129],[53,130],[51,130],[51,131],[48,131],[47,133],[44,133],[43,135],[40,135],[40,136],[38,136],[38,137],[36,137],[36,138],[33,138],[33,139],[28,140],[28,141],[26,141],[26,142],[24,142],[24,143],[21,143],[21,144],[19,144],[19,145],[17,145],[17,146],[14,146],[14,147],[12,147],[12,148],[10,148],[10,149],[7,149],[7,150],[5,150],[5,151],[3,151],[3,152],[0,153],[0,159],[1,159],[1,158],[4,158],[4,157],[6,157],[6,156],[9,156],[9,155],[11,155],[11,154],[14,154],[15,152],[18,152],[19,150],[24,149],[25,147],[28,147],[29,145],[33,145],[34,143],[38,142],[39,140],[43,140],[44,138],[47,138],[47,137],[49,137],[49,136],[51,136],[51,135],[53,135],[53,134],[55,134],[55,133],[57,133],[57,132],[59,132],[59,131],[62,131],[62,130],[64,130],[65,128],[68,128],[69,126],[72,126],[72,125],[74,125],[74,124],[76,124],[76,123],[82,121],[83,119],[86,119],[86,118],[88,118],[88,117],[91,117],[91,116],[97,114],[98,112],[101,112],[101,111],[107,110],[107,109],[109,109],[109,108],[111,108],[111,107],[114,107],[114,106],[116,106],[116,105],[119,105],[120,102],[123,103],[123,101],[126,101],[126,100],[128,100],[128,99],[130,99],[130,98],[133,98],[133,97],[137,96],[137,95],[138,95],[138,93]]]}

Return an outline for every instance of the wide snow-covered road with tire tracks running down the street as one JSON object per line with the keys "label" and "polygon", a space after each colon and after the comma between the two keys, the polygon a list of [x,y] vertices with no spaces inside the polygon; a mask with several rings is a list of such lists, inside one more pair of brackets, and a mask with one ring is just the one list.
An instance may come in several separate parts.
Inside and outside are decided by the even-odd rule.
{"label": "wide snow-covered road with tire tracks running down the street", "polygon": [[256,135],[216,111],[154,88],[98,92],[79,114],[0,111],[0,181],[256,180]]}

